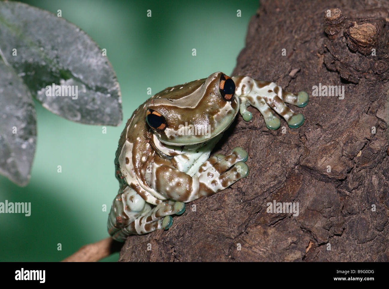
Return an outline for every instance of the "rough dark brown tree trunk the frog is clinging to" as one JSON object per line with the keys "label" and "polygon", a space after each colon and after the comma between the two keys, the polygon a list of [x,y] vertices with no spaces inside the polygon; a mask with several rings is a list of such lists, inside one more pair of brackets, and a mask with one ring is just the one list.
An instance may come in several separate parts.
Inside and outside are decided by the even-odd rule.
{"label": "rough dark brown tree trunk the frog is clinging to", "polygon": [[[250,122],[238,116],[217,152],[245,148],[249,176],[187,204],[168,231],[130,236],[119,261],[389,261],[387,5],[262,1],[233,75],[307,91],[293,107],[305,123],[272,131],[252,107]],[[344,99],[312,96],[319,83]],[[267,213],[273,200],[299,215]]]}

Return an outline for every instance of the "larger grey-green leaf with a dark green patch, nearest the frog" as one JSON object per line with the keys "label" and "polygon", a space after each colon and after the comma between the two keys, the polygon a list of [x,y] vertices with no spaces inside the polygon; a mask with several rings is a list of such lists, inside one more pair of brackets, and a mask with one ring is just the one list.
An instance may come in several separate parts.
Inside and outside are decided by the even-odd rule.
{"label": "larger grey-green leaf with a dark green patch, nearest the frog", "polygon": [[[74,24],[26,4],[0,1],[0,49],[49,111],[75,122],[121,123],[116,74],[97,44]],[[74,93],[77,87],[77,97],[47,96],[46,87],[53,83],[70,85]]]}

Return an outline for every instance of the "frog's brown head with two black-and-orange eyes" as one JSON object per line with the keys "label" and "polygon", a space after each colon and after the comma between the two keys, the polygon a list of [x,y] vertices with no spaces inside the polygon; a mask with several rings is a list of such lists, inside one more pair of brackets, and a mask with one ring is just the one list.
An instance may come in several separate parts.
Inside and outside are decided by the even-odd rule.
{"label": "frog's brown head with two black-and-orange eyes", "polygon": [[165,144],[208,141],[226,130],[238,113],[235,83],[222,72],[168,87],[145,105],[146,122]]}

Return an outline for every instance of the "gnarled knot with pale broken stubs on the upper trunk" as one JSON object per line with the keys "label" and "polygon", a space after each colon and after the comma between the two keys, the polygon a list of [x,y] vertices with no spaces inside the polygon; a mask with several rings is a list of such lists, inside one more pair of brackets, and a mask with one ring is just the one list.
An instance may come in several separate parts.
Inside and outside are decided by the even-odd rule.
{"label": "gnarled knot with pale broken stubs on the upper trunk", "polygon": [[389,37],[385,18],[373,15],[370,10],[358,11],[358,16],[347,19],[338,8],[331,8],[324,15],[325,42],[324,63],[332,71],[352,83],[361,78],[369,81],[389,79]]}

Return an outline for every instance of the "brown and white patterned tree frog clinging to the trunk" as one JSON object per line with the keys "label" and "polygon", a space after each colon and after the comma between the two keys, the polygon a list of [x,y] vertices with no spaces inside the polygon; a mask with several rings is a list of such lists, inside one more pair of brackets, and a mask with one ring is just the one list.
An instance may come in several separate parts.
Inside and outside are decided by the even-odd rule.
{"label": "brown and white patterned tree frog clinging to the trunk", "polygon": [[153,95],[133,112],[119,139],[115,170],[120,185],[109,213],[109,234],[123,242],[130,235],[167,230],[186,203],[245,178],[249,155],[244,148],[210,157],[238,112],[249,121],[247,108],[254,106],[268,129],[281,125],[275,113],[296,129],[305,118],[285,103],[304,107],[308,100],[304,91],[296,95],[270,81],[223,72]]}

